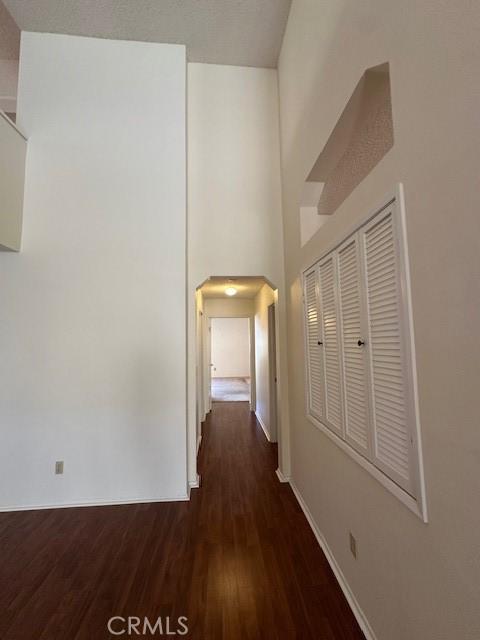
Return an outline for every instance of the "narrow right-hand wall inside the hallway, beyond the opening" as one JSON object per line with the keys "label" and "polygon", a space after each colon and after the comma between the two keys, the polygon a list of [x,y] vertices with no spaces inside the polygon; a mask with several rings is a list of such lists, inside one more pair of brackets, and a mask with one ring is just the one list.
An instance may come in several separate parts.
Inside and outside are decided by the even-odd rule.
{"label": "narrow right-hand wall inside the hallway, beyond the opening", "polygon": [[255,297],[255,371],[256,414],[269,439],[276,440],[274,425],[270,424],[270,363],[268,349],[268,307],[275,302],[275,293],[263,285]]}

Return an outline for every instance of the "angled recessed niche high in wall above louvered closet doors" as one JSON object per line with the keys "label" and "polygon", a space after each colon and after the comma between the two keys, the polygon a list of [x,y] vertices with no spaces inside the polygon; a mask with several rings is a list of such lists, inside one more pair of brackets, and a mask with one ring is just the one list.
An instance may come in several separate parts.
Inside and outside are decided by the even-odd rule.
{"label": "angled recessed niche high in wall above louvered closet doors", "polygon": [[392,147],[390,68],[385,63],[365,71],[305,181],[302,247]]}

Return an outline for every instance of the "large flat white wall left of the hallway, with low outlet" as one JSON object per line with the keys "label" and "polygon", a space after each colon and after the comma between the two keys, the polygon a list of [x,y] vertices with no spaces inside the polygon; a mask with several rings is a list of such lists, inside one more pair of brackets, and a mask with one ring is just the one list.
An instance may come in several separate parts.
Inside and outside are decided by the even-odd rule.
{"label": "large flat white wall left of the hallway, with low outlet", "polygon": [[185,49],[24,33],[18,120],[0,504],[185,497]]}

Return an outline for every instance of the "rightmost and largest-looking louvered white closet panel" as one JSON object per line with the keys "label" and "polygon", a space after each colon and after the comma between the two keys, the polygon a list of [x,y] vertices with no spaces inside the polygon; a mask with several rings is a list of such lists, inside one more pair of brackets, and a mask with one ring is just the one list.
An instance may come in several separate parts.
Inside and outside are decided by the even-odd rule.
{"label": "rightmost and largest-looking louvered white closet panel", "polygon": [[406,326],[402,317],[400,250],[393,206],[382,211],[361,233],[369,325],[373,457],[379,468],[412,493]]}

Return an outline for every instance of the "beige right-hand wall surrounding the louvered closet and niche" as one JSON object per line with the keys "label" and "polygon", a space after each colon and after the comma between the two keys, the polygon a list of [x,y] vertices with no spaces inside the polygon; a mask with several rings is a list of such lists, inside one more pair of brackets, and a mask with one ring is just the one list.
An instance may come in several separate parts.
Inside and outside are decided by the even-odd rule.
{"label": "beige right-hand wall surrounding the louvered closet and niche", "polygon": [[[378,640],[480,637],[479,29],[467,0],[294,0],[280,57],[293,480]],[[305,178],[365,69],[384,62],[394,146],[301,248]],[[398,182],[427,525],[305,417],[301,270]]]}

